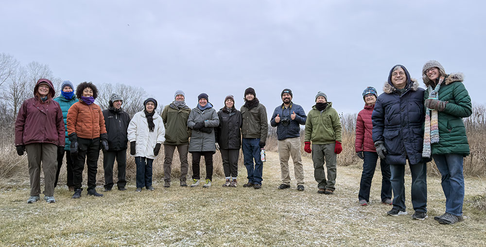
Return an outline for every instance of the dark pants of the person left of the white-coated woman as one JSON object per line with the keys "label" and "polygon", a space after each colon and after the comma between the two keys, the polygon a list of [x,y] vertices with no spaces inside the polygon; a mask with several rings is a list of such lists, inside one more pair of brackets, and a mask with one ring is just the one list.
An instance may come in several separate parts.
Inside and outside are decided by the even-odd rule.
{"label": "dark pants of the person left of the white-coated woman", "polygon": [[115,159],[118,165],[118,181],[117,186],[125,187],[125,169],[126,169],[126,149],[123,150],[108,150],[103,153],[103,169],[104,169],[104,188],[111,189],[113,187],[113,165]]}

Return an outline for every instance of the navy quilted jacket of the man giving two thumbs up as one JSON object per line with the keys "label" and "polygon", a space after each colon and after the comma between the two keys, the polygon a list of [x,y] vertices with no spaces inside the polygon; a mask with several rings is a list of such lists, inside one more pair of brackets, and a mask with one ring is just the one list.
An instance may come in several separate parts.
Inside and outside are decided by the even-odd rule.
{"label": "navy quilted jacket of the man giving two thumbs up", "polygon": [[[295,112],[295,119],[292,120],[290,115]],[[277,115],[280,117],[280,122],[275,122],[275,117]],[[285,120],[289,120],[288,124],[285,125]],[[285,108],[285,105],[281,105],[275,108],[270,119],[270,125],[272,127],[277,127],[277,140],[285,140],[287,138],[300,137],[300,125],[305,125],[307,116],[305,115],[304,109],[293,102],[290,102],[290,106]]]}

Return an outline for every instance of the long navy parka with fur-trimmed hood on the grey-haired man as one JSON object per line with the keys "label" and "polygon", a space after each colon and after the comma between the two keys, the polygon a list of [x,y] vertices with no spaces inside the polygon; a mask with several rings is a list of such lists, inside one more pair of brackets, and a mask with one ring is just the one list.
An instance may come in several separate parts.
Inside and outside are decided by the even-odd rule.
{"label": "long navy parka with fur-trimmed hood on the grey-haired man", "polygon": [[[406,74],[410,78],[408,71]],[[400,95],[390,80],[385,82],[383,93],[378,96],[371,115],[373,142],[384,142],[388,152],[386,163],[390,165],[405,165],[407,156],[412,165],[424,162],[425,90],[418,87],[415,79],[409,80],[406,88]]]}

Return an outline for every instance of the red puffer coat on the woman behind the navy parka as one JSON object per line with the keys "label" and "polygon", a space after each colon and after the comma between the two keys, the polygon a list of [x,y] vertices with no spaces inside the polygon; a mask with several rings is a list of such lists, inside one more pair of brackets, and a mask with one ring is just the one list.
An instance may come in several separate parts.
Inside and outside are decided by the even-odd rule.
{"label": "red puffer coat on the woman behind the navy parka", "polygon": [[371,114],[374,108],[375,105],[364,105],[364,109],[358,113],[358,119],[356,120],[356,141],[354,144],[356,152],[376,152],[372,137],[373,124],[371,123]]}

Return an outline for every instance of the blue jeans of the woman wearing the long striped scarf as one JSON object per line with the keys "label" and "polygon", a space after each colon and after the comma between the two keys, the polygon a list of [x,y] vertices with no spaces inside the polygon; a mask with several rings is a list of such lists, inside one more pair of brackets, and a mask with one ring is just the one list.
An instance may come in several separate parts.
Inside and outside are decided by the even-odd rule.
{"label": "blue jeans of the woman wearing the long striped scarf", "polygon": [[442,175],[442,190],[446,196],[446,213],[461,216],[464,202],[464,157],[460,154],[432,155]]}

